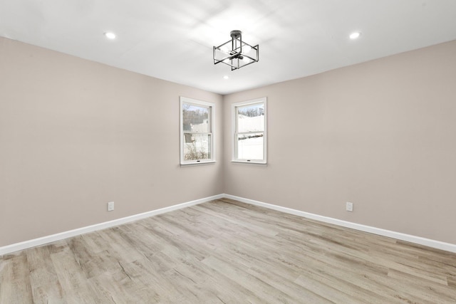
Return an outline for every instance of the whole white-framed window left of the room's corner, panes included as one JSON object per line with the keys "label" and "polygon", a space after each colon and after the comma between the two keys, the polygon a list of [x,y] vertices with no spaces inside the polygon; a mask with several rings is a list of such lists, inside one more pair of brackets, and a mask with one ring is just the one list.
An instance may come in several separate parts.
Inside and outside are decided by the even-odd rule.
{"label": "whole white-framed window left of the room's corner, panes included", "polygon": [[180,98],[180,163],[214,162],[214,103]]}

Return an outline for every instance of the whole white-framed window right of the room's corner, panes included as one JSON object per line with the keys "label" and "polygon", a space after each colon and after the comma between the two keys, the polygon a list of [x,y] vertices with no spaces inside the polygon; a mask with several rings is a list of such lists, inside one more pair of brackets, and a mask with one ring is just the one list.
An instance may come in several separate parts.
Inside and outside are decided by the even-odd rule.
{"label": "whole white-framed window right of the room's corner, panes included", "polygon": [[232,105],[233,162],[266,164],[266,98]]}

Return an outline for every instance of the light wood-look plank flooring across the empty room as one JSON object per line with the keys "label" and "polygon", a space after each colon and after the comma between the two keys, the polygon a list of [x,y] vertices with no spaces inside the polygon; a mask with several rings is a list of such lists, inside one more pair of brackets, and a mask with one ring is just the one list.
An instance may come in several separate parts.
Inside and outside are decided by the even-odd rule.
{"label": "light wood-look plank flooring across the empty room", "polygon": [[456,303],[456,254],[220,199],[0,257],[0,303]]}

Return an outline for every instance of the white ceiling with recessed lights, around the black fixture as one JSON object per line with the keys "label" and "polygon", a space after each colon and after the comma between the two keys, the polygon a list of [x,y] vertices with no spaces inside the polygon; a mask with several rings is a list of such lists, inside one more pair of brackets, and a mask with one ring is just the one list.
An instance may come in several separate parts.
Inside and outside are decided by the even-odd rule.
{"label": "white ceiling with recessed lights, around the black fixture", "polygon": [[[232,71],[234,29],[259,62]],[[0,36],[227,94],[455,40],[456,1],[0,0]]]}

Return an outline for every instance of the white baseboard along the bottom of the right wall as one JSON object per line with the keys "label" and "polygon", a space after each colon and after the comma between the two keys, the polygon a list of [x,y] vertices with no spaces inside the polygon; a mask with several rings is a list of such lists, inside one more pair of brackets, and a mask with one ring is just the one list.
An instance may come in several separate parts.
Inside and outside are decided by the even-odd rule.
{"label": "white baseboard along the bottom of the right wall", "polygon": [[410,243],[417,243],[417,244],[420,244],[420,245],[429,246],[429,247],[432,247],[432,248],[437,248],[437,249],[441,249],[441,250],[445,250],[445,251],[450,251],[450,252],[456,253],[456,245],[452,244],[452,243],[445,243],[445,242],[441,242],[441,241],[425,239],[425,238],[422,238],[420,236],[411,236],[410,234],[402,234],[400,232],[395,232],[395,231],[375,228],[375,227],[372,227],[372,226],[356,224],[356,223],[352,223],[350,221],[342,221],[340,219],[333,219],[333,218],[327,217],[327,216],[320,216],[320,215],[317,215],[317,214],[311,214],[311,213],[308,213],[308,212],[299,211],[299,210],[295,210],[295,209],[290,209],[290,208],[286,208],[286,207],[282,207],[282,206],[276,206],[276,205],[273,205],[273,204],[267,204],[267,203],[264,203],[262,201],[254,201],[253,199],[244,199],[244,197],[239,197],[239,196],[234,196],[234,195],[229,195],[229,194],[223,194],[222,196],[226,197],[227,199],[234,199],[236,201],[242,201],[243,203],[246,203],[246,204],[252,204],[252,205],[261,206],[261,207],[265,207],[265,208],[269,208],[269,209],[274,209],[276,211],[281,211],[281,212],[285,212],[285,213],[288,213],[288,214],[294,214],[294,215],[297,215],[297,216],[302,216],[302,217],[305,217],[307,219],[314,219],[316,221],[323,221],[324,223],[328,223],[328,224],[335,224],[335,225],[338,225],[338,226],[343,226],[343,227],[347,227],[347,228],[351,228],[351,229],[356,229],[356,230],[359,230],[359,231],[369,232],[371,234],[378,234],[380,236],[388,236],[388,237],[393,238],[393,239],[398,239],[398,240],[401,240],[401,241],[408,241]]}

